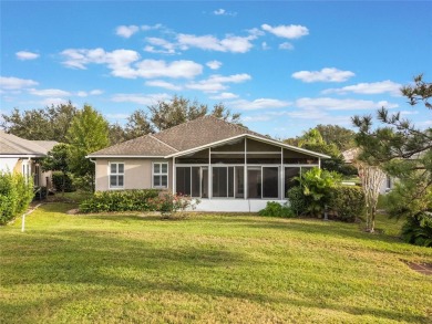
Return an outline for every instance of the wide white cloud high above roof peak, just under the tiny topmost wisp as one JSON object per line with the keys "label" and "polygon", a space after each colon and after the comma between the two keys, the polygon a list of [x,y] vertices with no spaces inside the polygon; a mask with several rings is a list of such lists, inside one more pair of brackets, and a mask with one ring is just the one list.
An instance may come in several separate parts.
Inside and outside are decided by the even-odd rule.
{"label": "wide white cloud high above roof peak, just under the tiny topmost wisp", "polygon": [[197,48],[206,51],[217,52],[233,52],[233,53],[246,53],[251,48],[251,40],[254,35],[249,36],[235,36],[228,35],[225,39],[217,39],[213,35],[197,36],[193,34],[178,34],[177,41],[182,50],[189,48]]}

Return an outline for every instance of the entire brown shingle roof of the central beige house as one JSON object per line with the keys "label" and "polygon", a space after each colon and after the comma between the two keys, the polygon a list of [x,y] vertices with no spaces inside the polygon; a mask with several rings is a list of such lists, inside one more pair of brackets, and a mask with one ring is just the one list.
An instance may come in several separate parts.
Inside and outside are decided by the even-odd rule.
{"label": "entire brown shingle roof of the central beige house", "polygon": [[131,139],[90,154],[88,157],[167,157],[181,155],[214,143],[222,143],[236,137],[250,136],[253,138],[280,144],[312,156],[328,157],[315,151],[291,147],[274,140],[261,134],[251,132],[246,127],[225,122],[214,116],[203,116],[194,121]]}

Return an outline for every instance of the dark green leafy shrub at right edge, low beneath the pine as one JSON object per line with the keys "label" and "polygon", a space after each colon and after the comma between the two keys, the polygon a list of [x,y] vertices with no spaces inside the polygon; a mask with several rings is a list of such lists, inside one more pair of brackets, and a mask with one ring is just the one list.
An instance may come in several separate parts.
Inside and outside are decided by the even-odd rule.
{"label": "dark green leafy shrub at right edge, low beneath the pine", "polygon": [[411,244],[432,247],[432,212],[408,217],[402,227],[402,239]]}

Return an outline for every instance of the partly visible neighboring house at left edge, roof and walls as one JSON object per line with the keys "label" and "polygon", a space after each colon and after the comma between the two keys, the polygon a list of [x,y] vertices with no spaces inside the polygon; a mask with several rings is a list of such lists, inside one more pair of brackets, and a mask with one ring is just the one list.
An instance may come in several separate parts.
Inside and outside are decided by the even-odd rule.
{"label": "partly visible neighboring house at left edge, roof and walls", "polygon": [[39,161],[55,144],[54,140],[28,140],[0,130],[0,171],[32,176],[35,187],[50,187],[51,173],[42,173]]}

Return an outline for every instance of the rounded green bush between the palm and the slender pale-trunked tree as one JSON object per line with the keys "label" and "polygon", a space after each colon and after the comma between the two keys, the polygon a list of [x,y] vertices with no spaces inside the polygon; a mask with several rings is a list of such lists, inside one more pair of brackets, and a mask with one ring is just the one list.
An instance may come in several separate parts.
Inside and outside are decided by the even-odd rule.
{"label": "rounded green bush between the palm and the slender pale-trunked tree", "polygon": [[329,209],[343,221],[354,221],[366,206],[364,194],[357,186],[340,186],[330,189]]}

